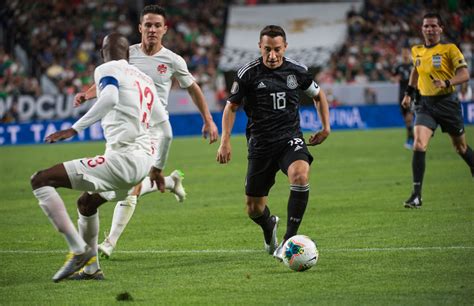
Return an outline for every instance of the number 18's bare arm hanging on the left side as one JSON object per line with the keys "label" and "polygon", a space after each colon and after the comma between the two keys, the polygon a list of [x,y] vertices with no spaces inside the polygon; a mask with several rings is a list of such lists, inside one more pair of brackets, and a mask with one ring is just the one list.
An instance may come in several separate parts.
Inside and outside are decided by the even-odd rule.
{"label": "number 18's bare arm hanging on the left side", "polygon": [[221,145],[217,150],[217,162],[226,164],[230,162],[232,157],[232,147],[230,145],[230,135],[234,127],[235,115],[239,106],[235,103],[227,101],[222,114],[222,137]]}

